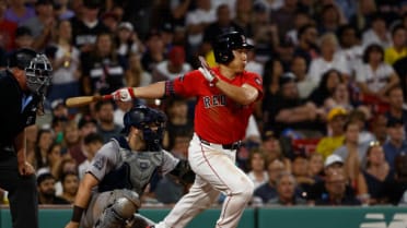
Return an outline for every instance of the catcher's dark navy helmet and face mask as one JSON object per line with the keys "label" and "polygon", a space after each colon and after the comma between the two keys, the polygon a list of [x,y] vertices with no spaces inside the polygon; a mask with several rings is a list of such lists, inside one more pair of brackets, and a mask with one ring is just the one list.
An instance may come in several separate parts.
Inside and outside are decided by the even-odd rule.
{"label": "catcher's dark navy helmet and face mask", "polygon": [[[161,147],[166,122],[166,116],[162,111],[140,105],[126,112],[123,121],[124,133],[129,133],[131,127],[142,130],[147,149],[156,151]],[[158,130],[153,131],[151,124],[155,124]]]}

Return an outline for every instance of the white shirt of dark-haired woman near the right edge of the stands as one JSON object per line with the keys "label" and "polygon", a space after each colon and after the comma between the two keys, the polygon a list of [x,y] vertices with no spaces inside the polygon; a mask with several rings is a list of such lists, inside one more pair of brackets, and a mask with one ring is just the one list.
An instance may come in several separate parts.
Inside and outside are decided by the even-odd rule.
{"label": "white shirt of dark-haired woman near the right edge of the stands", "polygon": [[369,64],[362,64],[357,69],[356,79],[365,83],[372,92],[379,92],[388,83],[392,74],[394,70],[387,63],[382,62],[375,71]]}

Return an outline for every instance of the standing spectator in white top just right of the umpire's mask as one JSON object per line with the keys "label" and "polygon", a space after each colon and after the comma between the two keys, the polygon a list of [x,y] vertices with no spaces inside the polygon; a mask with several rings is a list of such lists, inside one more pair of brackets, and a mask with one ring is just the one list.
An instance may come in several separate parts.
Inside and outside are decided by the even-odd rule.
{"label": "standing spectator in white top just right of the umpire's mask", "polygon": [[53,63],[53,87],[48,92],[49,101],[79,96],[81,77],[79,71],[79,50],[72,45],[72,26],[68,20],[58,21],[55,29],[50,61]]}

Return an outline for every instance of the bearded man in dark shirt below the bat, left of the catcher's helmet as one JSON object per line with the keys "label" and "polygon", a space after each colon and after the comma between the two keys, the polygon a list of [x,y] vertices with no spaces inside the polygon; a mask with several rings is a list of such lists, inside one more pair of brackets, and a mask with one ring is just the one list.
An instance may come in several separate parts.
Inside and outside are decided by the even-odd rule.
{"label": "bearded man in dark shirt below the bat, left of the catcher's helmet", "polygon": [[114,121],[114,106],[112,101],[98,101],[95,106],[97,118],[97,133],[104,143],[120,134],[121,128]]}

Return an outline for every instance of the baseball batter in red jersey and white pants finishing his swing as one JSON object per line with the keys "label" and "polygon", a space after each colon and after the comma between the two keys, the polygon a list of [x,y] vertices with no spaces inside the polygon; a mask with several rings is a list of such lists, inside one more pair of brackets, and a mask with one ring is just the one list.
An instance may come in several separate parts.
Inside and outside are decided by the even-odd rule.
{"label": "baseball batter in red jersey and white pants finishing his swing", "polygon": [[203,67],[174,81],[113,93],[115,99],[124,101],[135,97],[197,97],[195,135],[188,148],[188,161],[196,179],[189,192],[156,228],[185,227],[208,208],[220,192],[226,199],[216,227],[237,226],[254,185],[235,166],[235,153],[244,139],[254,103],[263,96],[261,77],[245,71],[247,50],[252,48],[243,34],[230,32],[220,35],[213,44],[219,67]]}

